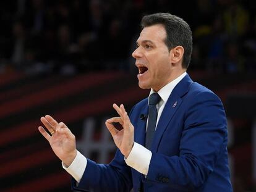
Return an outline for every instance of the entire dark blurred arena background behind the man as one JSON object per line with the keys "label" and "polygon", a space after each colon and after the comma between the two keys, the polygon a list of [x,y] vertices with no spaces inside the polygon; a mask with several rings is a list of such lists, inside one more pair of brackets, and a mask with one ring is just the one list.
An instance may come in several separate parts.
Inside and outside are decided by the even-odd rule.
{"label": "entire dark blurred arena background behind the man", "polygon": [[104,122],[149,90],[130,56],[145,14],[170,12],[193,31],[188,73],[223,101],[234,191],[256,191],[256,6],[244,0],[0,1],[0,191],[70,191],[70,175],[40,135],[65,122],[77,148],[108,163]]}

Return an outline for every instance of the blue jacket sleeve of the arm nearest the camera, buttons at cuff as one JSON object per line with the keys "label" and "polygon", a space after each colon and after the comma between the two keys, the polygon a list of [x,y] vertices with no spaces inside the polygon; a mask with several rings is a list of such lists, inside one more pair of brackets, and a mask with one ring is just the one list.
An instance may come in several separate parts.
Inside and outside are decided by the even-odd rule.
{"label": "blue jacket sleeve of the arm nearest the camera, buttons at cuff", "polygon": [[[227,135],[226,115],[220,99],[211,92],[198,93],[190,99],[182,123],[179,155],[153,153],[144,182],[164,182],[187,191],[200,187],[213,171]],[[171,145],[171,140],[168,144]]]}

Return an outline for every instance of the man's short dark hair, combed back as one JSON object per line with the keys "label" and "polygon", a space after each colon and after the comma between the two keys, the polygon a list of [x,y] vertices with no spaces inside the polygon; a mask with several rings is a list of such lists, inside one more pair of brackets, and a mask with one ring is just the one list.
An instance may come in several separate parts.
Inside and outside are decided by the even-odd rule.
{"label": "man's short dark hair, combed back", "polygon": [[189,24],[180,17],[169,13],[145,15],[141,21],[142,28],[157,24],[163,25],[166,30],[165,44],[169,51],[176,46],[182,46],[184,48],[182,67],[187,69],[193,47],[192,31],[190,30]]}

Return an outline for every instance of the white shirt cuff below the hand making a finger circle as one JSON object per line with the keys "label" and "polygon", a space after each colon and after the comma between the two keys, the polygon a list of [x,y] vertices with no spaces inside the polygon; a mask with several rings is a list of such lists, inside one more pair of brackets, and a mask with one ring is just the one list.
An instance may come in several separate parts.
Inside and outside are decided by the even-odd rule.
{"label": "white shirt cuff below the hand making a finger circle", "polygon": [[125,159],[126,164],[134,168],[144,175],[148,174],[148,167],[150,164],[152,152],[142,146],[141,144],[135,143],[130,151],[129,156]]}

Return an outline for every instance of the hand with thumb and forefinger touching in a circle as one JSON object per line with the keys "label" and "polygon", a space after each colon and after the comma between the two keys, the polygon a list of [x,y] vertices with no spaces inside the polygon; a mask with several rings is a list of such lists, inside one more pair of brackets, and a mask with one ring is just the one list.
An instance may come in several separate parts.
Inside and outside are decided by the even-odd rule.
{"label": "hand with thumb and forefinger touching in a circle", "polygon": [[[132,150],[132,146],[134,145],[134,126],[130,122],[129,116],[126,109],[124,109],[123,104],[121,104],[120,107],[113,104],[113,107],[116,109],[116,112],[120,115],[120,117],[108,119],[106,120],[105,124],[113,136],[113,140],[117,148],[119,148],[122,154],[127,158]],[[122,130],[117,130],[113,123],[120,123],[122,125]]]}

